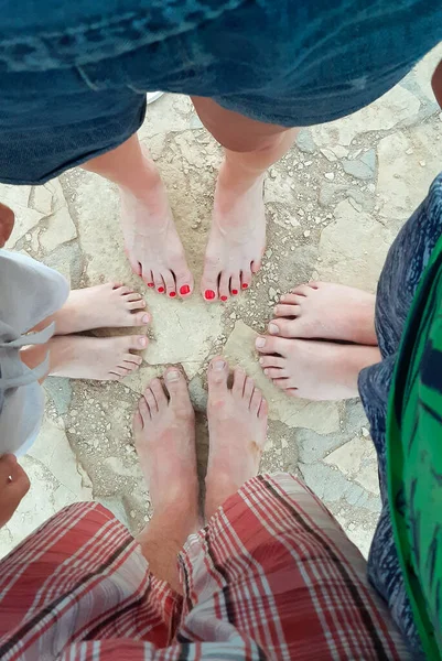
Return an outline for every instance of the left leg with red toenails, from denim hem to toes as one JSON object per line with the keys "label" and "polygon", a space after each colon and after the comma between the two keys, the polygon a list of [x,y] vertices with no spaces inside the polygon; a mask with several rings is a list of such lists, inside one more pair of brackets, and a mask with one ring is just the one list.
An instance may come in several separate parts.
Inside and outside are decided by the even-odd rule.
{"label": "left leg with red toenails, from denim hem to toes", "polygon": [[148,286],[174,297],[192,292],[183,246],[176,234],[164,185],[137,136],[84,165],[118,185],[126,250]]}

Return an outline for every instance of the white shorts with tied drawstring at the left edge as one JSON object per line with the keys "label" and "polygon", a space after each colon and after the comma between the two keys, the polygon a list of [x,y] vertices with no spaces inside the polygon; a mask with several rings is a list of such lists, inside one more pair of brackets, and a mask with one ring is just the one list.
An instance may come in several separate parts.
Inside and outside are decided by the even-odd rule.
{"label": "white shorts with tied drawstring at the left edge", "polygon": [[19,351],[52,337],[54,324],[29,330],[60,310],[68,293],[66,280],[53,269],[0,250],[0,456],[24,454],[39,433],[44,410],[39,379],[47,372],[48,357],[31,370]]}

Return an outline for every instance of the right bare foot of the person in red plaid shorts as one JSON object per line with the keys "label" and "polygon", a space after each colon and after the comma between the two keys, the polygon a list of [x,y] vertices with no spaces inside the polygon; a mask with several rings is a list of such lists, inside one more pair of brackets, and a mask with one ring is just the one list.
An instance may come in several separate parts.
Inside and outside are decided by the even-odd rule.
{"label": "right bare foot of the person in red plaid shorts", "polygon": [[254,379],[237,367],[231,389],[229,367],[214,358],[208,368],[206,518],[258,474],[267,434],[268,405]]}

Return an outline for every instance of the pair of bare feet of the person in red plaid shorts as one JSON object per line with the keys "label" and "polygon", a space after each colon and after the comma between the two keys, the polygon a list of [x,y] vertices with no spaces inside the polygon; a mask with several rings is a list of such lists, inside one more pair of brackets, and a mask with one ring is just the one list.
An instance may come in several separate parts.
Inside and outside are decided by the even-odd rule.
{"label": "pair of bare feet of the person in red plaid shorts", "polygon": [[[206,520],[258,474],[266,443],[266,400],[242,369],[235,368],[231,388],[228,376],[227,362],[214,358],[207,372]],[[186,535],[198,530],[195,415],[186,381],[176,368],[164,372],[164,384],[159,379],[149,383],[133,418],[133,432],[154,513],[180,512]]]}

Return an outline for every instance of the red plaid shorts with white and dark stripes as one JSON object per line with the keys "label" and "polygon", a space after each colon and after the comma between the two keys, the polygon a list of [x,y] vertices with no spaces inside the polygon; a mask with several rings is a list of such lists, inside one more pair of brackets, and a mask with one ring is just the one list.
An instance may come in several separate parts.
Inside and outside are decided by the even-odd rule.
{"label": "red plaid shorts with white and dark stripes", "polygon": [[294,477],[259,476],[179,556],[184,597],[105,508],[60,512],[0,564],[0,659],[408,659],[366,563]]}

